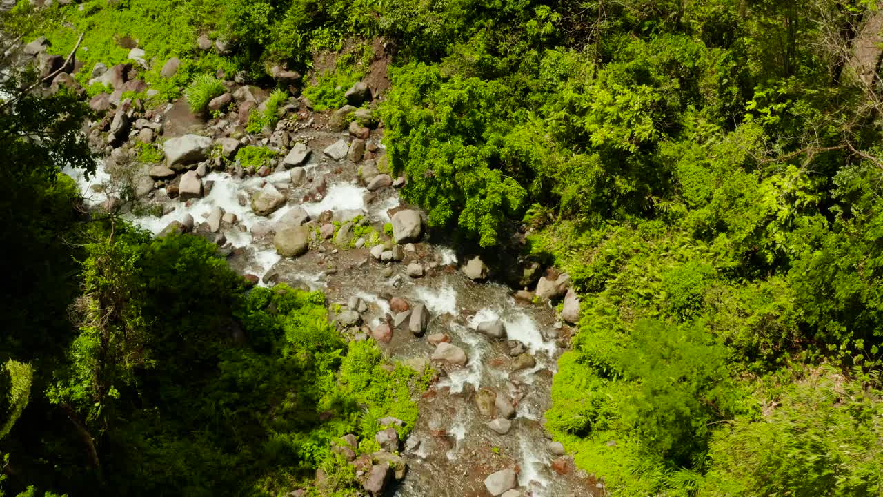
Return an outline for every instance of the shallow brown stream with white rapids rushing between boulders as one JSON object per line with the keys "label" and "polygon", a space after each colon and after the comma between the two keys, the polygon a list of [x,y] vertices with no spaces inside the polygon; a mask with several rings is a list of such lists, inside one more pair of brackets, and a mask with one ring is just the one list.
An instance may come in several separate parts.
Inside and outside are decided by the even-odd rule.
{"label": "shallow brown stream with white rapids rushing between boulders", "polygon": [[[65,171],[77,181],[90,205],[108,200],[113,191],[110,175],[99,167],[94,178],[87,180],[75,171]],[[382,231],[389,222],[388,210],[399,205],[396,195],[381,196],[373,202],[364,187],[355,183],[354,167],[348,172],[333,174],[328,164],[311,164],[309,174],[315,178],[326,175],[328,189],[318,202],[300,204],[313,218],[325,210],[366,212],[376,229]],[[330,178],[329,178],[330,177]],[[551,376],[555,359],[560,353],[555,343],[555,314],[548,307],[525,306],[517,303],[509,288],[494,283],[478,284],[465,279],[456,270],[456,252],[448,247],[420,244],[417,259],[434,269],[426,278],[411,279],[404,274],[403,264],[392,264],[393,276],[384,275],[383,266],[368,256],[367,248],[312,250],[298,259],[278,256],[266,235],[266,226],[273,226],[285,213],[298,205],[288,205],[269,217],[256,216],[250,198],[265,184],[287,187],[290,199],[301,198],[306,187],[291,187],[288,172],[276,172],[266,178],[238,179],[226,172],[211,172],[203,180],[214,181],[209,195],[197,201],[180,203],[168,199],[164,190],[155,192],[155,202],[165,212],[161,217],[126,216],[133,223],[152,233],[159,233],[172,221],[190,215],[200,224],[215,207],[233,213],[238,221],[224,225],[223,233],[233,247],[241,248],[230,258],[238,271],[263,277],[268,271],[283,273],[311,288],[323,288],[331,302],[345,302],[357,296],[368,304],[363,314],[367,325],[375,326],[390,313],[383,294],[402,296],[411,305],[422,302],[432,319],[426,334],[445,333],[468,356],[464,367],[442,366],[442,376],[432,390],[419,401],[420,416],[411,437],[419,440],[417,448],[404,453],[409,472],[396,487],[397,497],[462,497],[484,495],[483,480],[488,474],[507,467],[517,467],[518,482],[525,495],[570,496],[588,495],[585,481],[574,476],[563,478],[549,467],[548,454],[539,420],[549,403]],[[366,263],[364,260],[368,258]],[[338,271],[326,271],[334,265]],[[506,340],[488,340],[476,332],[485,321],[501,320],[509,340],[518,340],[536,360],[536,365],[522,371],[511,371],[512,358]],[[548,338],[547,338],[548,337]],[[397,360],[420,357],[428,359],[434,347],[425,339],[415,339],[404,330],[396,330],[389,345],[384,346]],[[487,427],[489,418],[481,417],[474,395],[479,389],[490,389],[511,399],[516,407],[511,430],[504,435]],[[593,489],[592,489],[593,490]]]}

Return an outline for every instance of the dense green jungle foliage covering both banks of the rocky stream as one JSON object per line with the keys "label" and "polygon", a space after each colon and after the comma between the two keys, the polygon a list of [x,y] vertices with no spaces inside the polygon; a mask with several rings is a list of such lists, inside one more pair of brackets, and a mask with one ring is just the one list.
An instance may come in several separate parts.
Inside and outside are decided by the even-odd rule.
{"label": "dense green jungle foliage covering both banks of the rocky stream", "polygon": [[[268,81],[272,65],[305,70],[343,50],[305,88],[319,109],[341,103],[382,37],[395,53],[384,140],[405,198],[480,247],[520,228],[525,254],[568,271],[582,296],[547,412],[579,466],[624,496],[873,496],[881,15],[870,0],[92,0],[19,2],[2,30],[45,34],[58,54],[86,33],[83,82],[95,62],[125,60],[125,35],[156,60],[181,57],[172,80],[162,64],[148,75],[166,88],[160,100],[218,68]],[[229,40],[230,55],[198,54],[198,33]],[[74,103],[45,105],[21,119],[37,129],[81,117],[56,107]],[[86,157],[64,143],[64,157]],[[36,166],[21,158],[31,153],[11,156],[0,181],[4,240],[18,251],[3,263],[15,293],[0,337],[4,406],[18,417],[0,424],[0,448],[21,458],[4,473],[16,485],[273,494],[335,464],[319,440],[376,430],[358,402],[389,405],[384,392],[413,379],[328,333],[321,295],[244,297],[200,241],[84,223],[49,153]],[[67,230],[71,241],[51,236]],[[177,279],[181,264],[199,277]],[[168,301],[177,307],[156,304]],[[213,334],[230,316],[249,348]],[[283,374],[304,378],[303,391]],[[322,422],[313,403],[342,417]],[[78,430],[101,447],[84,451]]]}

